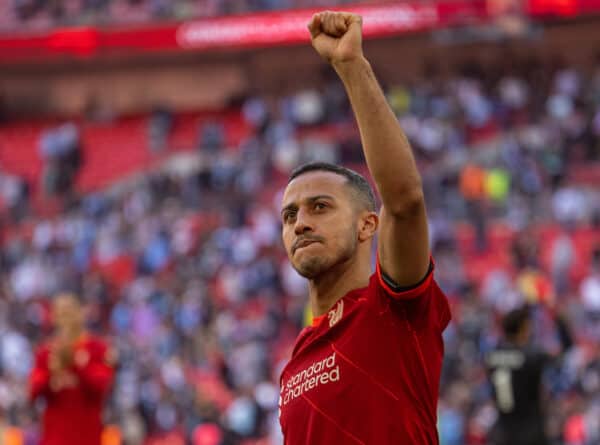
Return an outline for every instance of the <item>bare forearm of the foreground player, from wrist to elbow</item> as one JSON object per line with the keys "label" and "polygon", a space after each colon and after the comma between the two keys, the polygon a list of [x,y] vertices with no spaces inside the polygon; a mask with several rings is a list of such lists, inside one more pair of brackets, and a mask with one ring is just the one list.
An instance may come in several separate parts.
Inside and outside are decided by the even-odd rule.
{"label": "bare forearm of the foreground player, from wrist to elbow", "polygon": [[333,64],[360,131],[369,171],[386,211],[401,215],[422,205],[421,177],[410,144],[364,57]]}

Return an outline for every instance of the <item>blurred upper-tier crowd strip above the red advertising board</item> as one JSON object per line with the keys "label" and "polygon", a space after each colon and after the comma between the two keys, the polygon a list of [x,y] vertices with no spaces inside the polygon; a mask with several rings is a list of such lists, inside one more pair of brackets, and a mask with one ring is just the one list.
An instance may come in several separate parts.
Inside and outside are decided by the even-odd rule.
{"label": "blurred upper-tier crowd strip above the red advertising board", "polygon": [[[335,6],[349,0],[7,0],[0,31],[54,26],[118,25],[187,20],[259,11]],[[364,3],[364,2],[361,2]]]}

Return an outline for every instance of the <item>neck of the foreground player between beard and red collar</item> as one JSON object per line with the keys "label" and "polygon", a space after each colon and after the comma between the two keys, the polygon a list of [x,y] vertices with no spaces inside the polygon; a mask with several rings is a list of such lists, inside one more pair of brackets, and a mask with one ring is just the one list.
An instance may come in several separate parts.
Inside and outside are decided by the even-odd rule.
{"label": "neck of the foreground player between beard and red collar", "polygon": [[309,301],[315,317],[325,314],[344,295],[366,287],[371,276],[369,259],[354,259],[332,267],[314,280],[309,280]]}

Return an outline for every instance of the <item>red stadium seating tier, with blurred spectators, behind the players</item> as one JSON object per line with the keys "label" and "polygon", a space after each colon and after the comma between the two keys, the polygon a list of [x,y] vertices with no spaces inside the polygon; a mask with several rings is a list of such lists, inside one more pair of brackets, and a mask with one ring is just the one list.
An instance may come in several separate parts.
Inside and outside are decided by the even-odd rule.
{"label": "red stadium seating tier, with blurred spectators, behind the players", "polygon": [[[528,301],[538,311],[541,343],[553,345],[548,319],[555,310],[575,331],[576,352],[552,384],[553,438],[561,443],[578,416],[595,412],[600,381],[599,156],[590,150],[589,158],[570,159],[567,138],[557,138],[560,171],[547,168],[552,144],[532,148],[525,138],[514,140],[527,125],[554,137],[557,124],[545,102],[531,107],[539,114],[523,111],[526,117],[507,123],[493,88],[475,92],[473,109],[468,102],[448,115],[446,107],[419,108],[455,103],[463,96],[452,86],[467,83],[451,79],[447,96],[436,97],[416,85],[409,91],[413,108],[396,110],[423,172],[436,277],[453,307],[441,442],[485,443],[493,417],[480,357],[497,338],[499,317]],[[285,98],[285,110],[272,110],[281,119],[265,118],[262,126],[243,107],[175,113],[164,147],[154,149],[150,113],[76,119],[83,166],[74,189],[81,199],[63,205],[57,198],[51,212],[40,138],[64,121],[0,125],[2,184],[17,177],[31,185],[25,214],[11,211],[11,188],[0,187],[0,407],[17,413],[9,419],[0,410],[0,429],[15,424],[35,443],[35,417],[19,388],[32,347],[47,334],[48,300],[67,287],[85,295],[92,326],[122,357],[107,414],[121,430],[106,437],[129,435],[145,445],[220,435],[227,444],[280,443],[278,373],[305,320],[306,299],[281,249],[278,199],[286,175],[303,161],[329,159],[366,173],[348,110],[306,124],[289,112],[295,98]],[[482,100],[491,104],[486,123],[465,125],[467,111],[480,117]],[[599,110],[593,103],[586,116]],[[200,129],[214,122],[224,140],[201,148]],[[588,136],[586,143],[597,143]],[[481,182],[473,196],[460,187],[470,164]],[[486,182],[494,171],[501,179],[496,189]],[[582,283],[591,285],[583,290]],[[600,440],[585,434],[588,443]]]}

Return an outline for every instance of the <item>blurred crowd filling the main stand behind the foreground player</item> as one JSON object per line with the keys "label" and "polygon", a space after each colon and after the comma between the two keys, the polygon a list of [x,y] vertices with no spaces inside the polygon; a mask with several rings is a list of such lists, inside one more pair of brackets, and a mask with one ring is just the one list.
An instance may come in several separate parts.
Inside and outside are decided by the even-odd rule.
{"label": "blurred crowd filling the main stand behind the foreground player", "polygon": [[[512,63],[452,74],[430,66],[419,82],[384,86],[423,174],[436,278],[453,308],[441,443],[486,444],[496,413],[482,355],[502,314],[527,302],[538,345],[558,347],[555,312],[575,338],[548,369],[552,444],[597,444],[600,187],[571,172],[600,162],[600,61],[579,70],[504,60]],[[221,122],[204,123],[194,150],[134,183],[71,198],[50,218],[0,171],[0,429],[17,425],[36,443],[39,407],[28,407],[24,382],[48,335],[49,300],[71,290],[119,352],[106,421],[124,443],[281,443],[279,372],[310,317],[280,242],[284,179],[315,159],[361,166],[362,153],[335,79],[283,98],[249,96],[240,112],[254,130],[239,147],[226,146]],[[176,115],[148,119],[149,145],[160,147]],[[23,214],[11,211],[15,196]],[[510,235],[497,244],[500,226]],[[548,226],[559,235],[545,261]],[[510,260],[469,273],[473,258],[501,254]]]}

